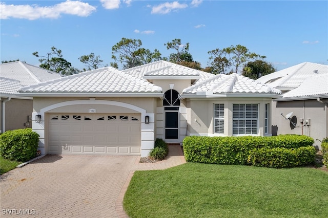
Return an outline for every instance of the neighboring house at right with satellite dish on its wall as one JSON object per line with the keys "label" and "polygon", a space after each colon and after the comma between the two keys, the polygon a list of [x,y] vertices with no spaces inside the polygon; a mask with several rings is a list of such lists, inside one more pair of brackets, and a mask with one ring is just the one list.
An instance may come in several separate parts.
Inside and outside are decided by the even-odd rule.
{"label": "neighboring house at right with satellite dish on its wall", "polygon": [[327,76],[327,65],[304,62],[256,80],[283,93],[272,102],[273,135],[307,135],[320,149],[328,137]]}

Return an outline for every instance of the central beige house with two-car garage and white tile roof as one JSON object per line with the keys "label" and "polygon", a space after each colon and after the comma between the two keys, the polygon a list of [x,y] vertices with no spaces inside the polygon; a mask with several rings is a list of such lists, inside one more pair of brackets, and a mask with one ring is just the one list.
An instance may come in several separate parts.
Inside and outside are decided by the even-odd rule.
{"label": "central beige house with two-car garage and white tile roof", "polygon": [[[270,136],[280,91],[237,74],[213,75],[167,61],[102,68],[30,85],[42,154],[148,156],[156,138]],[[40,118],[37,121],[37,116]]]}

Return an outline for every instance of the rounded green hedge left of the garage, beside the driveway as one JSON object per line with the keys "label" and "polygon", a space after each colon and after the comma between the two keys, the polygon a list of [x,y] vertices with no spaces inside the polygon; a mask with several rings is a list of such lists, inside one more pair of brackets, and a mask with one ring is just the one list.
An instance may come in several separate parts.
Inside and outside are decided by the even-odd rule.
{"label": "rounded green hedge left of the garage, beside the driveway", "polygon": [[0,156],[13,161],[28,161],[36,156],[39,135],[31,128],[8,130],[0,135]]}

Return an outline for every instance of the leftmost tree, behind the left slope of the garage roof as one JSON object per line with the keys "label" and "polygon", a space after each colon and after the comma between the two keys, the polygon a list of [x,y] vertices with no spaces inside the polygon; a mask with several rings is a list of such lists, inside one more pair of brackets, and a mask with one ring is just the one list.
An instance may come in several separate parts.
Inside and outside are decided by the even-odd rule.
{"label": "leftmost tree, behind the left slope of the garage roof", "polygon": [[[32,55],[39,57],[40,68],[44,68],[56,73],[65,75],[66,72],[72,67],[72,64],[63,58],[61,50],[51,47],[51,52],[48,52],[46,56],[39,56],[38,52],[33,52]],[[53,57],[56,55],[56,57]]]}

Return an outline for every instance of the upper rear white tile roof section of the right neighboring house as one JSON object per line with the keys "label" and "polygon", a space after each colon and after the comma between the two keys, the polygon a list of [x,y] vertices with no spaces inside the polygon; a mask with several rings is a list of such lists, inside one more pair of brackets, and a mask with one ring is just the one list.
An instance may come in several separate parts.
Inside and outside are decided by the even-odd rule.
{"label": "upper rear white tile roof section of the right neighboring house", "polygon": [[305,79],[318,74],[327,73],[328,66],[325,64],[303,62],[293,67],[262,76],[256,81],[281,90],[284,90],[284,88],[295,89],[300,86]]}

